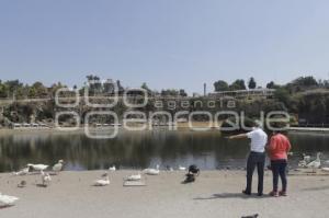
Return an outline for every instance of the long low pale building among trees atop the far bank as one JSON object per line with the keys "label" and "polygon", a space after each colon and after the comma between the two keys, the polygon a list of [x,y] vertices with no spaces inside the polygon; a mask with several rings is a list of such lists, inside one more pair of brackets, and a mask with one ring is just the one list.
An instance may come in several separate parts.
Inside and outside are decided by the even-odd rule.
{"label": "long low pale building among trees atop the far bank", "polygon": [[209,96],[224,97],[231,96],[235,99],[272,99],[275,89],[250,89],[250,90],[235,90],[235,91],[223,91],[209,93]]}

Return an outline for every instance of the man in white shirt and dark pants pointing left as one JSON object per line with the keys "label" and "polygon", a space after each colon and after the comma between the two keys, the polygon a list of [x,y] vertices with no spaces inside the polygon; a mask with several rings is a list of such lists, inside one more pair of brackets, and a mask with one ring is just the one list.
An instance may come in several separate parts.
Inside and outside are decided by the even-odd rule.
{"label": "man in white shirt and dark pants pointing left", "polygon": [[254,128],[247,134],[239,134],[228,137],[229,139],[250,138],[250,153],[247,161],[247,187],[242,191],[246,195],[251,195],[252,174],[254,168],[258,171],[258,195],[263,195],[263,179],[265,164],[265,146],[268,144],[268,135],[261,128],[259,121],[254,122]]}

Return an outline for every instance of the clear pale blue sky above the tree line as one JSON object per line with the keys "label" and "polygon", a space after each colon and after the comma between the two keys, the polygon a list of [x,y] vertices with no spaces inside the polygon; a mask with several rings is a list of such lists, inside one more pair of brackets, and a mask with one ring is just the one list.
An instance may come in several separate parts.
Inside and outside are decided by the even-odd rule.
{"label": "clear pale blue sky above the tree line", "polygon": [[202,92],[253,76],[329,79],[326,0],[1,0],[0,79],[87,74]]}

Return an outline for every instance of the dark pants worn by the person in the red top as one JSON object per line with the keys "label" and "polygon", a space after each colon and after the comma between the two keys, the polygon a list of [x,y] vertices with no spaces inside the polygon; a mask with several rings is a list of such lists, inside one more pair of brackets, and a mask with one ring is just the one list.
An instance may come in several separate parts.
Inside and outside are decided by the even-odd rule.
{"label": "dark pants worn by the person in the red top", "polygon": [[286,192],[286,160],[272,160],[271,168],[273,173],[273,191],[277,192],[279,175],[282,182],[282,191]]}

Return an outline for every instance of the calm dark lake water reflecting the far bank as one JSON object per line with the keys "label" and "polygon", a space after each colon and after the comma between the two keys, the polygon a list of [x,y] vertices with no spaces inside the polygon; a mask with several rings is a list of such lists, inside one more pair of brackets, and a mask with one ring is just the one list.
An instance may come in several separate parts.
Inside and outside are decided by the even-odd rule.
{"label": "calm dark lake water reflecting the far bank", "polygon": [[[296,167],[302,153],[321,151],[329,160],[329,135],[290,134]],[[0,172],[19,170],[26,163],[54,164],[64,159],[65,170],[143,169],[160,164],[197,164],[201,169],[241,169],[248,140],[227,140],[218,131],[121,131],[114,139],[90,139],[84,134],[19,133],[0,135]]]}

